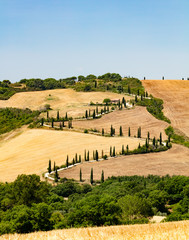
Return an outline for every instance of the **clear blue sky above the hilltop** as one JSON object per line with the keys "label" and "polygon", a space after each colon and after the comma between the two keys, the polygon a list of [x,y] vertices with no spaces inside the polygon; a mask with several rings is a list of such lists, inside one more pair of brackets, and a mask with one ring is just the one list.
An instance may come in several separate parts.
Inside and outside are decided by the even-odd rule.
{"label": "clear blue sky above the hilltop", "polygon": [[189,77],[188,0],[0,0],[0,81]]}

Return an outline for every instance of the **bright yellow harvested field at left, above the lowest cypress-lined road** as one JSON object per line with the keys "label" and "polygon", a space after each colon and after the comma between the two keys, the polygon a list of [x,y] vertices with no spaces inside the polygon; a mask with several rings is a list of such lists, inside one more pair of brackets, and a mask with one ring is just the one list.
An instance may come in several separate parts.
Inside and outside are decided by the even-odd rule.
{"label": "bright yellow harvested field at left, above the lowest cypress-lined road", "polygon": [[[104,154],[108,153],[110,146],[115,146],[116,151],[120,151],[122,145],[129,145],[130,149],[138,146],[143,140],[128,137],[101,137],[91,134],[55,131],[44,129],[26,129],[17,131],[12,138],[2,138],[0,141],[0,181],[12,181],[18,174],[41,175],[46,171],[49,159],[61,166],[66,162],[67,154],[70,162],[75,156],[84,155],[84,150],[90,151],[92,158],[93,150],[98,150],[101,156],[102,149]],[[8,174],[5,174],[8,169]]]}

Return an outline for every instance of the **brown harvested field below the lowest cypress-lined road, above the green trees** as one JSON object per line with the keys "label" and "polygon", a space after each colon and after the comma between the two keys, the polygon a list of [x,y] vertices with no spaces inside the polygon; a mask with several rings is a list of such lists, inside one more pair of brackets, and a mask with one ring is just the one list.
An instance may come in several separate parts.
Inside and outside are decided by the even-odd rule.
{"label": "brown harvested field below the lowest cypress-lined road, above the green trees", "polygon": [[132,175],[186,175],[189,176],[189,149],[174,144],[166,152],[148,153],[110,158],[100,162],[85,162],[74,168],[63,170],[61,177],[79,180],[79,169],[82,169],[83,179],[90,179],[90,169],[94,170],[94,179],[99,180],[104,170],[105,178],[111,176]]}

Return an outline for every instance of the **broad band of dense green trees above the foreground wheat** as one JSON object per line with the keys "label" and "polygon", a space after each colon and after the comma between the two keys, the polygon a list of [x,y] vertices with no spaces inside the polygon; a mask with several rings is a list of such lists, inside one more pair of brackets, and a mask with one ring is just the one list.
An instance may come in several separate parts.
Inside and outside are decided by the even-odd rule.
{"label": "broad band of dense green trees above the foreground wheat", "polygon": [[[79,173],[78,173],[79,174]],[[146,223],[154,214],[189,219],[189,177],[111,177],[100,185],[37,175],[0,184],[0,234],[58,228]]]}

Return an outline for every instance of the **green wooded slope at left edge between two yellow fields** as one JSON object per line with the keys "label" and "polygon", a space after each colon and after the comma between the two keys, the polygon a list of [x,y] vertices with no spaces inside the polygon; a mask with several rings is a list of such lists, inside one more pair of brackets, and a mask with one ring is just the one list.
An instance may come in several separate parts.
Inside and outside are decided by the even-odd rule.
{"label": "green wooded slope at left edge between two yellow fields", "polygon": [[39,113],[30,109],[0,108],[0,134],[31,123]]}

